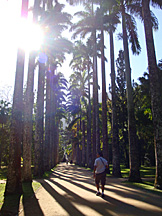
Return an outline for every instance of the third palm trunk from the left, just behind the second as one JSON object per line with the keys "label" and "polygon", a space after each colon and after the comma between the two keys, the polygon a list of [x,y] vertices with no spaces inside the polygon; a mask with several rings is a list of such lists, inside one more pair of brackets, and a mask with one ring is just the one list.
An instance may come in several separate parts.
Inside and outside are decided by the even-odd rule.
{"label": "third palm trunk from the left, just behind the second", "polygon": [[45,81],[45,64],[39,62],[35,143],[34,143],[34,154],[35,154],[34,173],[36,176],[42,176],[43,174],[44,81]]}

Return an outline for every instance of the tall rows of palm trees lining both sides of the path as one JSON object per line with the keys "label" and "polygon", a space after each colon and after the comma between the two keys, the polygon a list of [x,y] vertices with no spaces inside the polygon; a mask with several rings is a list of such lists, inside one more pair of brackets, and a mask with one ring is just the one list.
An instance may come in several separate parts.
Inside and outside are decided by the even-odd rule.
{"label": "tall rows of palm trees lining both sides of the path", "polygon": [[[10,127],[6,129],[10,134],[6,194],[21,192],[22,179],[32,181],[32,163],[34,174],[42,176],[59,162],[59,152],[64,149],[71,152],[77,164],[91,168],[96,152],[102,149],[104,157],[113,165],[112,174],[120,177],[120,164],[125,163],[130,168],[130,181],[141,181],[141,163],[156,165],[155,187],[162,188],[161,62],[157,65],[153,40],[153,28],[158,28],[158,22],[150,10],[151,4],[162,8],[161,1],[67,2],[84,5],[84,11],[75,14],[79,17],[76,23],[71,22],[72,16],[63,11],[64,5],[59,1],[34,1],[33,21],[44,28],[45,42],[41,52],[30,53],[25,89],[25,52],[22,49],[17,52]],[[28,15],[27,0],[22,1],[21,14]],[[139,78],[140,84],[132,83],[129,57],[129,44],[134,54],[141,51],[135,17],[144,24],[148,56],[148,72]],[[119,37],[123,51],[119,51],[115,60],[114,33],[118,25],[122,26]],[[62,37],[68,27],[74,43]],[[106,92],[105,32],[110,37],[111,96]],[[76,40],[78,35],[82,40]],[[69,83],[58,72],[65,53],[73,55]],[[98,98],[98,59],[102,103]],[[36,68],[39,75],[34,103]],[[66,130],[62,118],[66,118]],[[2,138],[4,143],[7,139]]]}

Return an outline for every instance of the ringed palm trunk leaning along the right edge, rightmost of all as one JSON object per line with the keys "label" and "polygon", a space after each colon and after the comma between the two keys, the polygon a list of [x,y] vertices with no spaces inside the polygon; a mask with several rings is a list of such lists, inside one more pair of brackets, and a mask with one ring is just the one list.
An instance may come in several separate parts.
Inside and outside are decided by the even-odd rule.
{"label": "ringed palm trunk leaning along the right edge, rightmost of all", "polygon": [[149,3],[149,0],[142,1],[155,137],[154,143],[156,159],[156,176],[154,185],[156,188],[162,189],[162,98],[158,77],[158,68],[155,55]]}

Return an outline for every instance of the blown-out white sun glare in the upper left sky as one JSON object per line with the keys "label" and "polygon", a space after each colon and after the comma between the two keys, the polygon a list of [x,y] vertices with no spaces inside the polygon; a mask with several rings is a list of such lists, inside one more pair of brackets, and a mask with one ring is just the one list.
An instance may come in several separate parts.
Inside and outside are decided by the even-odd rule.
{"label": "blown-out white sun glare in the upper left sky", "polygon": [[43,30],[40,25],[32,22],[30,13],[28,19],[21,18],[20,1],[18,6],[13,4],[13,1],[0,2],[0,45],[4,50],[39,50],[43,44]]}

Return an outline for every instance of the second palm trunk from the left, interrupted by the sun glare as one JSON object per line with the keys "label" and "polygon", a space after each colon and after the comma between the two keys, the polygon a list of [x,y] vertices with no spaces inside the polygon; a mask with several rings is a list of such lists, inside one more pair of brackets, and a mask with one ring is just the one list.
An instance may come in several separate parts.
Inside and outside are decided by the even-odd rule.
{"label": "second palm trunk from the left, interrupted by the sun glare", "polygon": [[[35,0],[33,22],[37,22],[40,0]],[[36,53],[32,51],[29,56],[27,89],[24,98],[24,129],[23,129],[23,181],[31,181],[31,146],[32,146],[32,116],[34,103],[34,69]]]}

